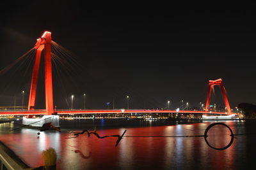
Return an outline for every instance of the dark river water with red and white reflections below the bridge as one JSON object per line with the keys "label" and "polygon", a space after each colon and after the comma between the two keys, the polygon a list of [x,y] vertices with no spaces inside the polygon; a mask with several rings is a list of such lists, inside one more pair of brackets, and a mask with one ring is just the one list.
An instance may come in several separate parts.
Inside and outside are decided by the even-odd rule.
{"label": "dark river water with red and white reflections below the bridge", "polygon": [[[235,136],[226,150],[214,150],[204,137],[138,137],[138,136],[198,136],[214,122],[174,122],[145,120],[66,120],[61,121],[61,132],[39,132],[36,129],[17,129],[18,124],[0,124],[0,140],[9,146],[31,167],[42,166],[42,151],[54,148],[57,169],[249,169],[255,166],[256,135]],[[229,121],[234,134],[256,132],[254,121]],[[97,127],[100,136],[125,136],[115,147],[116,138],[99,139],[93,134],[74,132]],[[228,145],[230,132],[216,125],[208,132],[211,146]]]}

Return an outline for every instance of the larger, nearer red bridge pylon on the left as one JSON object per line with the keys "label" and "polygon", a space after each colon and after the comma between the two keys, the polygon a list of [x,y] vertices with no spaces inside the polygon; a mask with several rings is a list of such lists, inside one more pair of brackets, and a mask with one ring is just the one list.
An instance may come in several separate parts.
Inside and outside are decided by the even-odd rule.
{"label": "larger, nearer red bridge pylon on the left", "polygon": [[36,39],[35,63],[32,72],[31,87],[29,93],[28,110],[34,110],[36,99],[36,87],[38,82],[38,73],[42,50],[44,50],[44,66],[45,66],[45,109],[46,114],[53,113],[53,96],[52,96],[52,59],[51,59],[51,32],[45,31],[41,38]]}

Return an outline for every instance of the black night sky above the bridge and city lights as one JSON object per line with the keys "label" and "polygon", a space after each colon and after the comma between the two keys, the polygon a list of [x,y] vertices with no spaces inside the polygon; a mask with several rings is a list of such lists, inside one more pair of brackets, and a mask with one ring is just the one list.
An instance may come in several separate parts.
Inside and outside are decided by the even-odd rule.
{"label": "black night sky above the bridge and city lights", "polygon": [[[100,2],[99,2],[100,3]],[[255,5],[204,8],[191,4],[83,4],[79,1],[8,2],[1,5],[0,69],[33,48],[44,31],[74,53],[54,73],[58,109],[171,108],[205,103],[209,80],[222,78],[232,108],[255,103]],[[66,56],[67,57],[67,56]],[[32,59],[32,58],[31,58]],[[26,65],[27,64],[27,65]],[[30,64],[30,65],[29,65]],[[28,103],[32,62],[1,76],[0,105]],[[28,67],[30,66],[30,67]],[[26,71],[28,67],[28,71]],[[41,71],[42,72],[42,71]],[[41,77],[43,73],[40,73]],[[39,80],[36,108],[44,108]],[[220,88],[212,103],[224,106]]]}

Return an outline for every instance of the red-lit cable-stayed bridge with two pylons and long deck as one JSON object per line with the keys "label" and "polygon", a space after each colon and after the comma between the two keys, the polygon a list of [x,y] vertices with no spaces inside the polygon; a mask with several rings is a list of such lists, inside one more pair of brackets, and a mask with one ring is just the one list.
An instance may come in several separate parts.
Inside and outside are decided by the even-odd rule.
{"label": "red-lit cable-stayed bridge with two pylons and long deck", "polygon": [[[45,31],[41,38],[36,39],[35,46],[29,50],[35,50],[35,62],[33,66],[33,72],[31,77],[31,87],[29,92],[29,102],[28,102],[28,110],[2,110],[0,111],[0,115],[76,115],[76,114],[131,114],[131,113],[176,113],[176,114],[199,114],[199,115],[232,115],[232,111],[230,110],[230,105],[228,103],[227,94],[225,88],[223,86],[223,81],[221,79],[218,80],[209,80],[209,91],[207,94],[205,111],[189,111],[189,110],[54,110],[54,100],[52,94],[52,57],[58,57],[51,52],[52,45],[56,45],[54,41],[51,39],[51,32]],[[41,54],[44,50],[44,73],[45,73],[45,110],[35,110],[35,99],[36,99],[36,88],[38,85],[38,74],[40,69],[40,60]],[[29,52],[22,55],[24,57]],[[53,56],[54,55],[54,56]],[[5,67],[0,71],[0,76],[4,74],[10,67],[12,67],[15,63],[19,62],[19,60],[15,60],[13,64],[8,67]],[[214,90],[214,86],[218,85],[221,88],[221,94],[225,101],[225,106],[227,108],[227,112],[217,112],[217,111],[209,111],[209,103],[211,97],[211,91]],[[31,117],[31,116],[29,116]]]}

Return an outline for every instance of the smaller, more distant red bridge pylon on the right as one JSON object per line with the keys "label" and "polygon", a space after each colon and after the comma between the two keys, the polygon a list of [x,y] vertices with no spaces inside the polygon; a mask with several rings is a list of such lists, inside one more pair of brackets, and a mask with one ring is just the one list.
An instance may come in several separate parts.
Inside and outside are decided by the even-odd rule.
{"label": "smaller, more distant red bridge pylon on the right", "polygon": [[232,112],[231,112],[231,109],[230,109],[230,106],[229,106],[229,103],[228,103],[228,97],[227,97],[227,94],[226,94],[226,90],[224,88],[224,85],[223,85],[223,82],[222,82],[221,78],[219,78],[218,80],[209,80],[209,90],[208,90],[206,104],[205,104],[205,111],[209,111],[211,90],[214,88],[214,85],[220,85],[221,94],[223,96],[225,105],[227,107],[228,115],[230,115]]}

